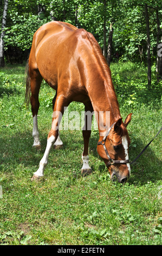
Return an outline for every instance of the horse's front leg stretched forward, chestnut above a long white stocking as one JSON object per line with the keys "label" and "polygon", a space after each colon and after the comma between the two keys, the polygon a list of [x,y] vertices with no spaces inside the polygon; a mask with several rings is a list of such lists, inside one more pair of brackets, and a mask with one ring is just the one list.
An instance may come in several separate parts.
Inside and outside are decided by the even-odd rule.
{"label": "horse's front leg stretched forward, chestnut above a long white stocking", "polygon": [[31,180],[38,179],[39,177],[44,176],[44,168],[47,166],[48,156],[49,156],[51,147],[53,146],[53,144],[57,140],[57,137],[59,136],[59,125],[62,119],[64,107],[66,106],[68,106],[67,99],[62,95],[57,95],[54,112],[53,112],[53,121],[51,125],[51,130],[48,133],[46,150],[40,161],[40,166],[37,169],[37,171],[34,173],[33,178]]}

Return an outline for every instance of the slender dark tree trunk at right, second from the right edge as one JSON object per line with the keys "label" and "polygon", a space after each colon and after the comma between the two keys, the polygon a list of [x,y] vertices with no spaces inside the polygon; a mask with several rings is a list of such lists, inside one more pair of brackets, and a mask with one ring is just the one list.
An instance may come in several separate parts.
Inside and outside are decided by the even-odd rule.
{"label": "slender dark tree trunk at right, second from the right edge", "polygon": [[147,32],[147,69],[148,69],[148,87],[151,87],[151,54],[150,54],[150,25],[148,19],[147,4],[145,4],[146,32]]}

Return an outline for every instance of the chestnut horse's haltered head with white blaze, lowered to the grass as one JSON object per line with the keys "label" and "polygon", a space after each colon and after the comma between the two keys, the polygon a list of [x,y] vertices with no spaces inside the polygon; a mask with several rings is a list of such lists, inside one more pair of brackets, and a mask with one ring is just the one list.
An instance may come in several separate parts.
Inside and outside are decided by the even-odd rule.
{"label": "chestnut horse's haltered head with white blaze, lowered to the grass", "polygon": [[124,183],[131,174],[131,168],[128,161],[128,149],[130,139],[127,132],[127,125],[131,121],[129,114],[124,123],[119,118],[115,124],[110,127],[108,135],[101,137],[98,142],[98,153],[105,162],[111,179],[115,177],[118,182]]}

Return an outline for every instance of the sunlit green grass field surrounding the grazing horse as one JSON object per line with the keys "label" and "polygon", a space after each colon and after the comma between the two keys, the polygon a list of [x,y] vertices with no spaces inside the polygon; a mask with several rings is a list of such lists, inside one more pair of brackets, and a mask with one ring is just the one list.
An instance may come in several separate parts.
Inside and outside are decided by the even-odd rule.
{"label": "sunlit green grass field surrounding the grazing horse", "polygon": [[[161,134],[121,185],[110,181],[96,152],[98,132],[92,131],[89,145],[93,173],[82,177],[82,132],[61,131],[64,147],[51,150],[44,178],[31,182],[46,148],[54,92],[42,84],[42,148],[36,151],[31,111],[23,105],[24,69],[7,65],[0,72],[0,244],[160,245]],[[111,69],[123,119],[133,113],[128,125],[133,160],[161,127],[160,84],[153,78],[153,88],[147,89],[144,66],[115,63]],[[83,105],[71,103],[70,110],[81,111]]]}

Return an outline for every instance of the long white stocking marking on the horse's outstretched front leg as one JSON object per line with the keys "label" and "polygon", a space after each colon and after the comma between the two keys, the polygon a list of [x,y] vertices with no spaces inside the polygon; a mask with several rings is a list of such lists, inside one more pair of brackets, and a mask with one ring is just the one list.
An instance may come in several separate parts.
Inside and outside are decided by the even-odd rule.
{"label": "long white stocking marking on the horse's outstretched front leg", "polygon": [[47,139],[46,150],[45,150],[44,155],[40,161],[40,167],[34,173],[35,175],[41,176],[41,177],[44,176],[44,168],[47,166],[49,152],[50,152],[50,149],[51,149],[52,145],[54,144],[54,142],[55,142],[55,137],[53,135],[51,137],[49,137],[49,139]]}

